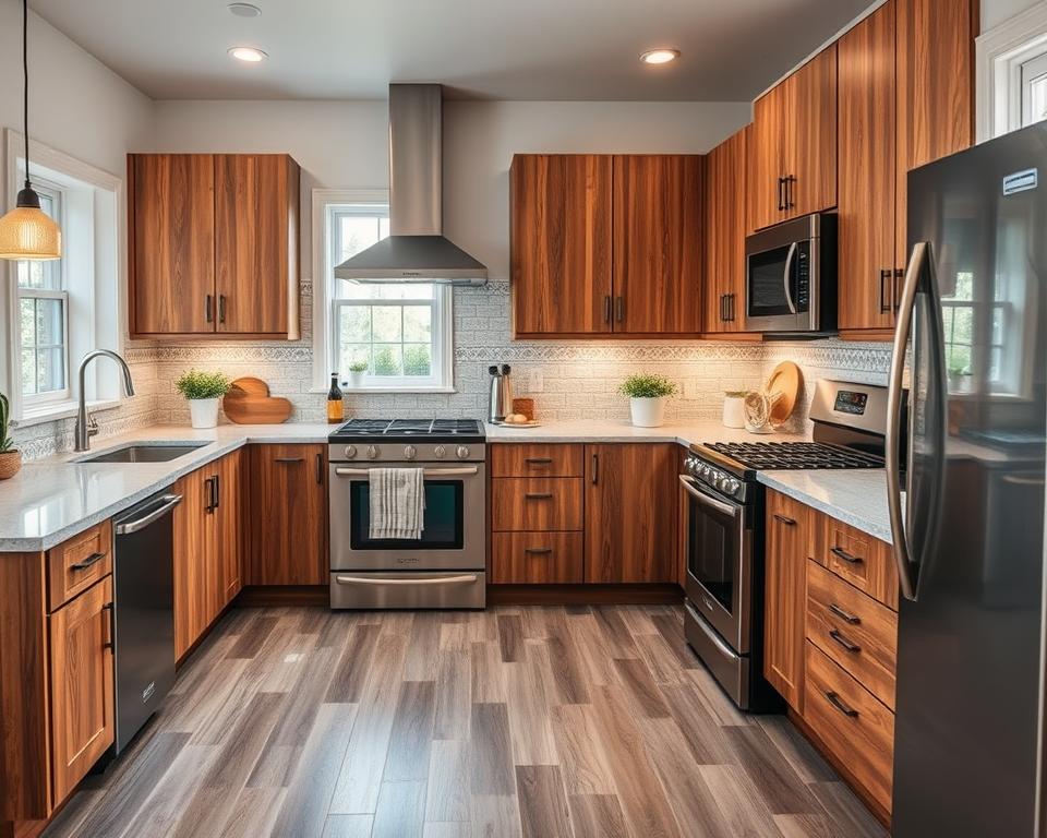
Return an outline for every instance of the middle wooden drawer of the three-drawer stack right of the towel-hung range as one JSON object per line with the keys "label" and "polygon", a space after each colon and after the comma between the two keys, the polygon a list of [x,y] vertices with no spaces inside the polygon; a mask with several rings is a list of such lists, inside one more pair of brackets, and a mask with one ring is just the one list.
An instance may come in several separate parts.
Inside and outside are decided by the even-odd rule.
{"label": "middle wooden drawer of the three-drawer stack right of the towel-hung range", "polygon": [[491,528],[579,530],[582,479],[575,477],[500,477],[491,481]]}

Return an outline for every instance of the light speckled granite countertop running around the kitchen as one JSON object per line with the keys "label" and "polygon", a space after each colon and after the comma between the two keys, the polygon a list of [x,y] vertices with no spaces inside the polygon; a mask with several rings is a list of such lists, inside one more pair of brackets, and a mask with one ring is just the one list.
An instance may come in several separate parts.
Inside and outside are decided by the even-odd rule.
{"label": "light speckled granite countertop running around the kitchen", "polygon": [[[203,442],[168,463],[75,463],[83,454],[63,454],[26,463],[0,483],[0,551],[47,550],[105,520],[183,475],[253,443],[326,442],[328,424],[222,424],[208,430],[156,426],[95,442],[92,453],[135,442]],[[801,434],[750,434],[720,422],[635,428],[625,420],[573,420],[537,428],[486,426],[488,442],[702,442],[801,441]],[[765,471],[759,480],[815,508],[883,540],[891,531],[882,470]]]}

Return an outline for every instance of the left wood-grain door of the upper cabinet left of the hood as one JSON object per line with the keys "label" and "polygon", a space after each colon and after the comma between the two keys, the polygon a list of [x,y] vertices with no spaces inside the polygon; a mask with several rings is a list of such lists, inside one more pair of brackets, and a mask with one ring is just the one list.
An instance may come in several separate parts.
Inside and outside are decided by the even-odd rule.
{"label": "left wood-grain door of the upper cabinet left of the hood", "polygon": [[209,154],[128,161],[131,336],[215,331],[215,164]]}

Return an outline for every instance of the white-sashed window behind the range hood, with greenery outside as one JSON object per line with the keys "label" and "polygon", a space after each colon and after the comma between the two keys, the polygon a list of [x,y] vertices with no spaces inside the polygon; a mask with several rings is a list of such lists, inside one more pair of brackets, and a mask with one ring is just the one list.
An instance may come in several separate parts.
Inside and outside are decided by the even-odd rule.
{"label": "white-sashed window behind the range hood, with greenery outside", "polygon": [[[314,215],[316,207],[314,200]],[[329,366],[317,371],[315,385],[326,388],[326,374],[337,370],[349,388],[448,392],[450,289],[414,283],[361,285],[335,278],[336,265],[389,235],[388,205],[324,200],[320,208],[323,216],[317,226],[326,238],[328,298],[326,352],[322,357]],[[350,376],[353,366],[363,368],[360,378]]]}

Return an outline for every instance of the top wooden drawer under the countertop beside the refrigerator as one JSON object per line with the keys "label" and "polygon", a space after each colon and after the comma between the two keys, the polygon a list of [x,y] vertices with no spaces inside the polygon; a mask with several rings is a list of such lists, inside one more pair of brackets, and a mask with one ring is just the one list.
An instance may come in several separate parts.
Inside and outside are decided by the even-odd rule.
{"label": "top wooden drawer under the countertop beside the refrigerator", "polygon": [[858,590],[898,611],[891,546],[828,515],[818,515],[811,558]]}

